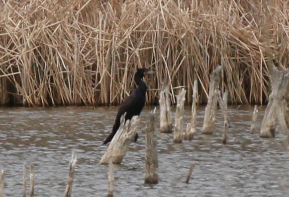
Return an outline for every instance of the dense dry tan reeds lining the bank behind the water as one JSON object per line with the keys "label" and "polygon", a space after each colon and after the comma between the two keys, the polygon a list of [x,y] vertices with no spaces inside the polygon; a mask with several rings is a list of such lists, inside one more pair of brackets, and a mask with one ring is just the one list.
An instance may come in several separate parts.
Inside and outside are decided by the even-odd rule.
{"label": "dense dry tan reeds lining the bank behind the water", "polygon": [[223,66],[229,103],[264,103],[267,59],[289,63],[288,0],[2,0],[0,104],[114,105],[134,88],[136,67],[207,101],[209,73]]}

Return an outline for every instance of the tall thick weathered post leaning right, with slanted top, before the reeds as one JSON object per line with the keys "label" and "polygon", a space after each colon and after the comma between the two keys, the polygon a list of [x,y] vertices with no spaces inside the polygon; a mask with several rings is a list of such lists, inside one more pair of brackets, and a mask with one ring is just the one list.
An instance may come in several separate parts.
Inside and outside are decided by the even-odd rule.
{"label": "tall thick weathered post leaning right, with slanted top, before the reeds", "polygon": [[221,70],[222,66],[217,66],[216,69],[210,74],[209,98],[205,108],[204,122],[202,127],[202,133],[204,134],[213,134],[215,129],[218,103],[217,89],[221,78]]}

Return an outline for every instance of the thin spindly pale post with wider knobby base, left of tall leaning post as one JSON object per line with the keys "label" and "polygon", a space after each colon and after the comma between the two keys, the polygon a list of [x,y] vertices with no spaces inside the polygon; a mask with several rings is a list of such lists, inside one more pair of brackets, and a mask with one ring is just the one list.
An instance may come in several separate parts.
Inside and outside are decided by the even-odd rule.
{"label": "thin spindly pale post with wider knobby base, left of tall leaning post", "polygon": [[191,140],[193,135],[196,133],[196,102],[197,102],[197,80],[193,82],[193,103],[192,103],[192,119],[191,123],[187,125],[187,131],[184,139]]}

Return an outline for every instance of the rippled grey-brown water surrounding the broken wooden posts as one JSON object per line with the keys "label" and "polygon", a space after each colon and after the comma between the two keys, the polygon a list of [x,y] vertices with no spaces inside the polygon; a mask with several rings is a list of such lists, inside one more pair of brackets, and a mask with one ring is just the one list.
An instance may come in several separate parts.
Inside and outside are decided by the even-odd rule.
{"label": "rippled grey-brown water surrounding the broken wooden posts", "polygon": [[[289,196],[289,154],[285,135],[263,139],[250,134],[252,107],[231,107],[228,142],[221,143],[218,112],[213,135],[198,131],[192,141],[173,143],[173,134],[159,134],[158,185],[144,184],[145,124],[152,108],[141,114],[139,139],[121,165],[115,166],[116,197],[282,197]],[[24,163],[35,166],[35,196],[63,196],[72,150],[78,155],[73,197],[107,195],[107,166],[98,165],[117,108],[0,108],[0,169],[5,171],[4,196],[21,196]],[[265,108],[259,109],[258,127]],[[190,121],[186,109],[184,123]],[[204,108],[197,110],[198,130]],[[186,127],[186,126],[184,126]],[[195,163],[189,184],[185,183]]]}

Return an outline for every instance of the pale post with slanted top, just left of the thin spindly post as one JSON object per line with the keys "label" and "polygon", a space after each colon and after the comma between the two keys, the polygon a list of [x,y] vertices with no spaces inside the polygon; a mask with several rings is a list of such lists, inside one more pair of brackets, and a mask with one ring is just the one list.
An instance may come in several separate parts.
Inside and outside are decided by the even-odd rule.
{"label": "pale post with slanted top, just left of the thin spindly post", "polygon": [[186,90],[182,88],[179,95],[177,95],[177,109],[175,114],[175,132],[174,132],[174,143],[182,143],[184,138],[184,130],[183,130],[183,116],[185,110],[185,95]]}

